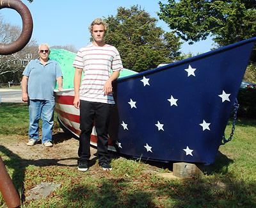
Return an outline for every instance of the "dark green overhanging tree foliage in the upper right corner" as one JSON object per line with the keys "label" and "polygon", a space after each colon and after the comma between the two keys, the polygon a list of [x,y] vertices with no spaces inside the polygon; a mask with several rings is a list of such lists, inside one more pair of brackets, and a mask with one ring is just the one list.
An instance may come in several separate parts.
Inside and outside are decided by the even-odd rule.
{"label": "dark green overhanging tree foliage in the upper right corner", "polygon": [[160,19],[190,44],[209,35],[219,46],[256,36],[254,0],[168,0],[159,5]]}

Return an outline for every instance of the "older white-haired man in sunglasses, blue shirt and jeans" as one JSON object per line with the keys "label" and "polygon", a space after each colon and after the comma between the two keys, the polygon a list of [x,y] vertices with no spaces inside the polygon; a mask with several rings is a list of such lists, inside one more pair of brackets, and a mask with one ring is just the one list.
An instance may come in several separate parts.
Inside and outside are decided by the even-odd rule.
{"label": "older white-haired man in sunglasses, blue shirt and jeans", "polygon": [[58,82],[62,89],[62,72],[57,61],[49,60],[48,44],[38,47],[39,58],[31,60],[23,72],[21,81],[22,101],[29,105],[28,146],[39,140],[38,122],[42,118],[42,145],[52,146],[52,127],[55,99],[53,90]]}

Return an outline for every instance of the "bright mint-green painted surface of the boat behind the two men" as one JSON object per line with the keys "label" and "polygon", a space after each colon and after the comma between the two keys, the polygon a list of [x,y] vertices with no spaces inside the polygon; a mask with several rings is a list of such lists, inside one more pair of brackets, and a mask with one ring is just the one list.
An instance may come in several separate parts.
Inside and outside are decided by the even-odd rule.
{"label": "bright mint-green painted surface of the boat behind the two men", "polygon": [[[60,63],[60,67],[63,73],[63,89],[74,88],[75,68],[72,67],[72,64],[76,54],[64,49],[51,49],[51,54],[49,57],[52,60],[58,61],[58,63]],[[124,70],[120,72],[119,77],[126,77],[136,73],[137,72],[124,68]],[[58,86],[56,88],[58,88]]]}

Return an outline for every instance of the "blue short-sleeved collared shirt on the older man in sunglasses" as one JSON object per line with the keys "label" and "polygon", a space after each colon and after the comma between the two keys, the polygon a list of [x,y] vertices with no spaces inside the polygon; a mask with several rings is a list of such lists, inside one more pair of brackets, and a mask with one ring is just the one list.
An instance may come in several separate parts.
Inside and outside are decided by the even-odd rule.
{"label": "blue short-sleeved collared shirt on the older man in sunglasses", "polygon": [[23,74],[28,78],[28,97],[31,100],[54,100],[56,79],[62,76],[57,61],[48,60],[43,65],[39,59],[31,60]]}

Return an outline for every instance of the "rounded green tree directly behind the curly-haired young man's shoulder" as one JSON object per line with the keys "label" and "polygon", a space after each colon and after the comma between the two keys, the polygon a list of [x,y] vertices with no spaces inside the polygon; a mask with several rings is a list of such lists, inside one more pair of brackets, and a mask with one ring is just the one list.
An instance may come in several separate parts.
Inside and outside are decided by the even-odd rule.
{"label": "rounded green tree directly behind the curly-haired young man's shoulder", "polygon": [[106,43],[115,45],[125,68],[141,72],[159,63],[170,63],[180,55],[182,44],[172,32],[164,33],[157,19],[137,6],[118,8],[118,13],[105,19],[108,23]]}

